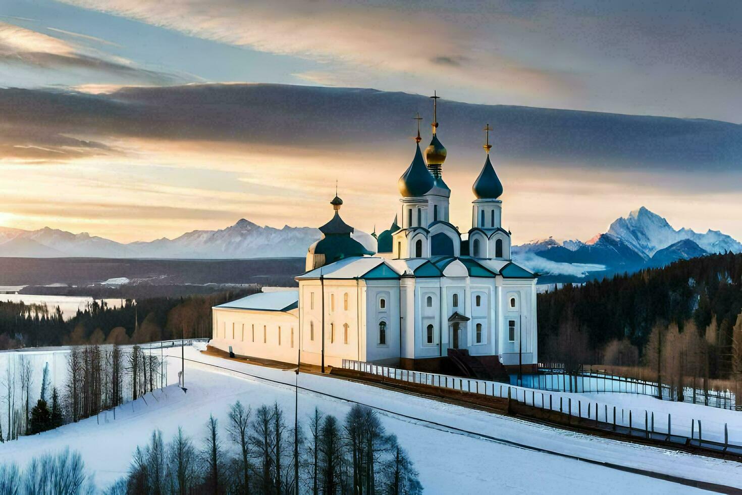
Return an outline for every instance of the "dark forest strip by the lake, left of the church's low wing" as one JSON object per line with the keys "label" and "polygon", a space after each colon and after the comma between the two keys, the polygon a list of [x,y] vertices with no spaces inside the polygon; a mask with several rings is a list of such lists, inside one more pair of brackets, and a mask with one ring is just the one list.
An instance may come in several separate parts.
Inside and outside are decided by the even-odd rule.
{"label": "dark forest strip by the lake, left of the church's low wing", "polygon": [[65,319],[59,306],[0,301],[0,350],[82,344],[142,344],[211,335],[211,306],[257,289],[180,298],[93,300]]}

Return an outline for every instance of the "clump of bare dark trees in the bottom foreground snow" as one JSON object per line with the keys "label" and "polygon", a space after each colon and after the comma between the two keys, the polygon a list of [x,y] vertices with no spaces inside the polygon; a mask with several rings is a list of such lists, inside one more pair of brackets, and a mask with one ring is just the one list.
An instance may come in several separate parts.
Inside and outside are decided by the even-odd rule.
{"label": "clump of bare dark trees in the bottom foreground snow", "polygon": [[[155,430],[108,493],[295,494],[294,433],[278,404],[253,412],[237,401],[224,430],[210,416],[198,443],[182,427],[167,443]],[[315,408],[298,438],[298,493],[422,493],[413,462],[370,407],[356,404],[343,422]]]}

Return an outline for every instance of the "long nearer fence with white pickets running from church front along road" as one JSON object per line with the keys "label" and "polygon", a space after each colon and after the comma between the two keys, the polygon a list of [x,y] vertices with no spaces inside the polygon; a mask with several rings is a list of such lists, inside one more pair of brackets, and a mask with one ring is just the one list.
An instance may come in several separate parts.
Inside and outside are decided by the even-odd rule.
{"label": "long nearer fence with white pickets running from church front along road", "polygon": [[[640,410],[637,413],[637,410],[611,404],[599,404],[597,401],[583,401],[582,399],[573,400],[571,397],[496,381],[402,370],[353,359],[344,359],[342,368],[413,384],[508,399],[508,401],[515,401],[517,404],[531,408],[531,410],[522,411],[524,416],[543,417],[541,414],[536,414],[535,410],[562,413],[567,416],[568,424],[585,424],[587,420],[591,427],[611,430],[633,438],[652,439],[669,445],[686,445],[742,456],[742,444],[729,441],[729,427],[726,423],[721,428],[720,424],[712,422],[715,428],[704,430],[703,423],[698,419],[683,423],[677,422],[676,419],[673,422],[671,413],[667,413],[665,419],[664,413],[660,415],[650,410]],[[738,441],[742,441],[742,438]]]}

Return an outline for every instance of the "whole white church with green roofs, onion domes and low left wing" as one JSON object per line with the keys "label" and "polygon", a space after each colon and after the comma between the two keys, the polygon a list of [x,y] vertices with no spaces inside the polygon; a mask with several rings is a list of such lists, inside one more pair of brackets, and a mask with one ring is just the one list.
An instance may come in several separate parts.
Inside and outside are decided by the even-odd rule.
{"label": "whole white church with green roofs, onion domes and low left wing", "polygon": [[[376,236],[334,214],[309,246],[298,290],[213,309],[212,347],[235,355],[339,367],[343,359],[408,370],[514,372],[536,367],[536,274],[510,260],[503,187],[490,162],[473,181],[471,227],[449,221],[446,148],[433,138],[398,180],[398,214]],[[485,376],[487,373],[485,373]]]}

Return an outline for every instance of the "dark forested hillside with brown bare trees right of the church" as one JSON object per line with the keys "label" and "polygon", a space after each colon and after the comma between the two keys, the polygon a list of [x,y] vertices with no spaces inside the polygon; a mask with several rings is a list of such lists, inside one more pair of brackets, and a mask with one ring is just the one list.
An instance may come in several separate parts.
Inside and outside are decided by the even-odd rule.
{"label": "dark forested hillside with brown bare trees right of the church", "polygon": [[537,304],[542,361],[642,367],[679,400],[683,387],[742,384],[742,254],[566,284]]}

